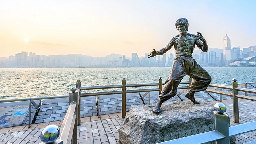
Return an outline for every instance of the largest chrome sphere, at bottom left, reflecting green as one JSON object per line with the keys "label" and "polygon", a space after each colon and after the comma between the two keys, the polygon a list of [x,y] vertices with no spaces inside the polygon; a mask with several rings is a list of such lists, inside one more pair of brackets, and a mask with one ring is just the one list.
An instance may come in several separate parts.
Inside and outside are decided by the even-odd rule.
{"label": "largest chrome sphere, at bottom left, reflecting green", "polygon": [[43,143],[53,143],[59,137],[60,129],[58,126],[52,124],[45,127],[40,135],[40,139]]}

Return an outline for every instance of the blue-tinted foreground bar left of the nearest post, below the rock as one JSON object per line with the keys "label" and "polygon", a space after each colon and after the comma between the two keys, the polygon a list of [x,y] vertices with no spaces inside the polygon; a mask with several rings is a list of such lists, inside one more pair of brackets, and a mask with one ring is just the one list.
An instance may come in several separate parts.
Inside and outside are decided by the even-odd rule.
{"label": "blue-tinted foreground bar left of the nearest post, below the rock", "polygon": [[225,136],[221,133],[217,132],[216,130],[199,133],[197,135],[191,135],[188,137],[182,137],[179,139],[173,139],[170,141],[164,141],[158,144],[177,144],[177,143],[189,143],[189,144],[206,144],[214,141],[218,141],[220,139],[224,139]]}

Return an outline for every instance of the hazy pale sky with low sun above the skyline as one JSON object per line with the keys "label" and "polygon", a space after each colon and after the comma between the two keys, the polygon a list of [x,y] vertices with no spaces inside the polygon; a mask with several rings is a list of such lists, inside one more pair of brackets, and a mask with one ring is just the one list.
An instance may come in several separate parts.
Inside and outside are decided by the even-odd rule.
{"label": "hazy pale sky with low sun above the skyline", "polygon": [[[111,53],[144,56],[165,47],[185,17],[189,33],[201,32],[211,48],[256,45],[256,1],[0,1],[0,57]],[[198,49],[198,48],[196,48]],[[168,52],[174,52],[173,48]]]}

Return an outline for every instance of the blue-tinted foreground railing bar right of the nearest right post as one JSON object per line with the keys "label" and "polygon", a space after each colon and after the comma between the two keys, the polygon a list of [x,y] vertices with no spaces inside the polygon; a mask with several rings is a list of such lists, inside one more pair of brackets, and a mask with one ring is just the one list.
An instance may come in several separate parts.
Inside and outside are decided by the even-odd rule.
{"label": "blue-tinted foreground railing bar right of the nearest right post", "polygon": [[256,121],[229,127],[229,137],[256,130]]}

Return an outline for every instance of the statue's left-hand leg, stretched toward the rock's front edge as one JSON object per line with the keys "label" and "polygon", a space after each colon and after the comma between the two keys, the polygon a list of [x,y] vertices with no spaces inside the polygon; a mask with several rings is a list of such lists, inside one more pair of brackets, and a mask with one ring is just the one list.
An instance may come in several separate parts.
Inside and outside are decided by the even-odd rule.
{"label": "statue's left-hand leg, stretched toward the rock's front edge", "polygon": [[162,91],[159,95],[158,102],[156,103],[152,112],[156,114],[160,113],[160,107],[162,103],[164,103],[165,101],[167,101],[168,99],[176,95],[177,87],[185,75],[186,75],[186,72],[184,69],[183,59],[177,59],[177,58],[174,59],[169,77],[164,83]]}

